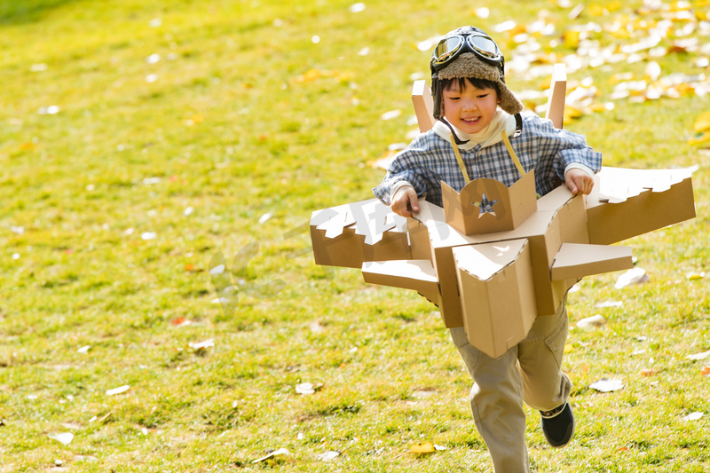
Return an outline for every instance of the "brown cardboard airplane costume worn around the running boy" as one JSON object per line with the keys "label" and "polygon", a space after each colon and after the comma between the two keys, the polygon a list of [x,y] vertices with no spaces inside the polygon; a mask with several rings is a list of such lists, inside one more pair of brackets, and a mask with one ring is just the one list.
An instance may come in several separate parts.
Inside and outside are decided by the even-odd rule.
{"label": "brown cardboard airplane costume worn around the running boy", "polygon": [[[557,128],[565,83],[556,65],[547,117]],[[424,81],[413,101],[420,130],[429,130]],[[555,313],[583,276],[632,267],[631,248],[611,243],[695,217],[690,169],[603,168],[587,196],[561,185],[536,199],[532,171],[509,188],[477,179],[460,193],[442,183],[442,193],[444,208],[420,199],[408,218],[376,199],[313,212],[315,262],[414,289],[493,358],[522,341],[536,317]],[[470,203],[484,194],[497,200],[492,212]]]}

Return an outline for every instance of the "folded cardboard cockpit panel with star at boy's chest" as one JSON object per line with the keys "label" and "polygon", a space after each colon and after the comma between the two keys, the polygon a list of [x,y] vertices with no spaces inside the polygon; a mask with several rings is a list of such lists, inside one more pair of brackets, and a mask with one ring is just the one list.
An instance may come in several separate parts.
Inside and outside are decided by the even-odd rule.
{"label": "folded cardboard cockpit panel with star at boy's chest", "polygon": [[[493,212],[481,213],[477,202],[495,201]],[[474,179],[461,192],[441,181],[446,223],[465,235],[513,230],[537,209],[535,174],[530,171],[510,187],[495,179]]]}

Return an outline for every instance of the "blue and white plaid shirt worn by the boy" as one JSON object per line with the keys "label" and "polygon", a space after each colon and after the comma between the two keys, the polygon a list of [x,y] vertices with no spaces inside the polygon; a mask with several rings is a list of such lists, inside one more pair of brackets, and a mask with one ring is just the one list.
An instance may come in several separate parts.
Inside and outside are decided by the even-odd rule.
{"label": "blue and white plaid shirt worn by the boy", "polygon": [[[558,179],[564,181],[564,169],[573,162],[584,164],[594,172],[602,168],[602,154],[587,146],[584,136],[557,130],[551,121],[536,115],[525,117],[523,133],[510,138],[510,144],[525,172],[535,169],[535,186],[540,195],[553,190],[559,184]],[[520,178],[502,141],[485,148],[477,145],[460,151],[471,180],[489,177],[510,186]],[[418,195],[426,193],[426,200],[439,207],[443,207],[441,181],[458,192],[466,184],[451,143],[434,130],[414,138],[394,157],[382,184],[373,189],[375,197],[390,205],[390,187],[402,180],[413,185]],[[481,203],[482,211],[489,210],[488,202]]]}

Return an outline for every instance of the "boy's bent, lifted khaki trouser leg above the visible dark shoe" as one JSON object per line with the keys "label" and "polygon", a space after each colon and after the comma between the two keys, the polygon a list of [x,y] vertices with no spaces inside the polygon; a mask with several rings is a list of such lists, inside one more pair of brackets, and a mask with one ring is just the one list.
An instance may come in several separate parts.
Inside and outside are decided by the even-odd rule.
{"label": "boy's bent, lifted khaki trouser leg above the visible dark shoe", "polygon": [[572,390],[572,382],[560,369],[569,325],[565,304],[566,296],[555,315],[535,319],[530,333],[517,345],[525,404],[539,411],[562,406]]}

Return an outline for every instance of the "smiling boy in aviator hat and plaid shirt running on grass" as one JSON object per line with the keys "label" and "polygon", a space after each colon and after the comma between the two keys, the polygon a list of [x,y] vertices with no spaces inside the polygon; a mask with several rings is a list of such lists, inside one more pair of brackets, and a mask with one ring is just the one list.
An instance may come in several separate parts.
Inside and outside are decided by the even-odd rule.
{"label": "smiling boy in aviator hat and plaid shirt running on grass", "polygon": [[[430,62],[437,122],[395,157],[374,189],[377,198],[403,217],[419,210],[419,196],[442,206],[440,181],[457,191],[466,184],[453,146],[471,180],[514,184],[519,174],[502,130],[525,171],[535,169],[537,193],[550,192],[560,180],[574,194],[591,192],[601,154],[584,137],[556,130],[548,120],[523,119],[523,105],[505,85],[504,64],[498,45],[479,28],[458,28],[438,43]],[[481,202],[481,211],[491,205]],[[567,324],[563,300],[556,314],[540,314],[525,340],[498,359],[471,346],[463,327],[450,330],[474,381],[469,400],[477,430],[499,473],[528,471],[524,400],[540,411],[550,445],[572,440],[572,382],[560,369]]]}

